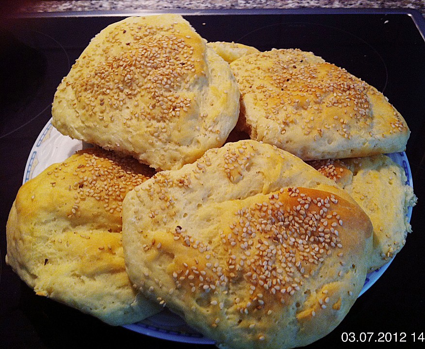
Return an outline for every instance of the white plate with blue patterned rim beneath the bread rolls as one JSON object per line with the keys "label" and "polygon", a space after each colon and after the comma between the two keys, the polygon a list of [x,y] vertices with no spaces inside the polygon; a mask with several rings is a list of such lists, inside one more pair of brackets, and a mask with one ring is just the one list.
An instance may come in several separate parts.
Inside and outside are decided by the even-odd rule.
{"label": "white plate with blue patterned rim beneath the bread rolls", "polygon": [[[73,155],[77,150],[82,149],[82,142],[73,140],[62,135],[51,124],[51,120],[41,131],[36,142],[31,149],[30,156],[25,167],[23,183],[40,174],[53,163],[64,161]],[[387,154],[394,162],[401,165],[407,176],[407,184],[413,187],[409,161],[404,152]],[[409,207],[408,218],[410,221],[412,208]],[[387,270],[392,259],[382,268],[367,274],[366,282],[360,292],[359,297],[366,292],[379,277]],[[141,322],[124,326],[125,328],[143,333],[151,337],[168,339],[177,342],[194,344],[214,344],[211,339],[203,337],[190,328],[183,319],[170,311],[164,309],[160,314],[149,317]]]}

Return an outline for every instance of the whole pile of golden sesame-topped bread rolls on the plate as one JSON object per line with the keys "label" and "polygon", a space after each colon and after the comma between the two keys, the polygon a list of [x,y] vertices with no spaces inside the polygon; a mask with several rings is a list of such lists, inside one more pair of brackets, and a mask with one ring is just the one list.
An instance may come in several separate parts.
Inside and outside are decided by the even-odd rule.
{"label": "whole pile of golden sesame-topped bread rolls on the plate", "polygon": [[6,260],[111,325],[167,307],[220,348],[305,346],[411,231],[416,196],[384,155],[405,120],[311,52],[129,17],[84,49],[52,123],[93,148],[20,188]]}

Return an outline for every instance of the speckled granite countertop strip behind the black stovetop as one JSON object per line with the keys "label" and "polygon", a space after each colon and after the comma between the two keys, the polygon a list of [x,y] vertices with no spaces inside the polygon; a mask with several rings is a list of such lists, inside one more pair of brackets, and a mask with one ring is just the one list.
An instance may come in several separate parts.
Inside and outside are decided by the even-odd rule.
{"label": "speckled granite countertop strip behind the black stovetop", "polygon": [[294,8],[413,8],[425,14],[424,0],[39,0],[25,1],[19,12],[165,11]]}

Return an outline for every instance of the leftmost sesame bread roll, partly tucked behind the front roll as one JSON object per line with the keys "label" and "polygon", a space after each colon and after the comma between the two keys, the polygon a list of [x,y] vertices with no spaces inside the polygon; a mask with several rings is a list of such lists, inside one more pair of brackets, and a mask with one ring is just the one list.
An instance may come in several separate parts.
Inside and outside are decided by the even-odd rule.
{"label": "leftmost sesame bread roll, partly tucked behind the front roll", "polygon": [[121,205],[152,171],[101,149],[51,165],[18,191],[6,226],[6,262],[37,295],[111,325],[160,309],[124,266]]}

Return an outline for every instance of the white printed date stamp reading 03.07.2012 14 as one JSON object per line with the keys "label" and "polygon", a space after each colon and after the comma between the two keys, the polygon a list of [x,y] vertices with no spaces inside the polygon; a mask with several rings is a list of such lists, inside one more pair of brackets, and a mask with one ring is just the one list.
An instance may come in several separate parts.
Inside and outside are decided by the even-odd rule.
{"label": "white printed date stamp reading 03.07.2012 14", "polygon": [[423,332],[343,332],[341,334],[343,343],[424,343]]}

